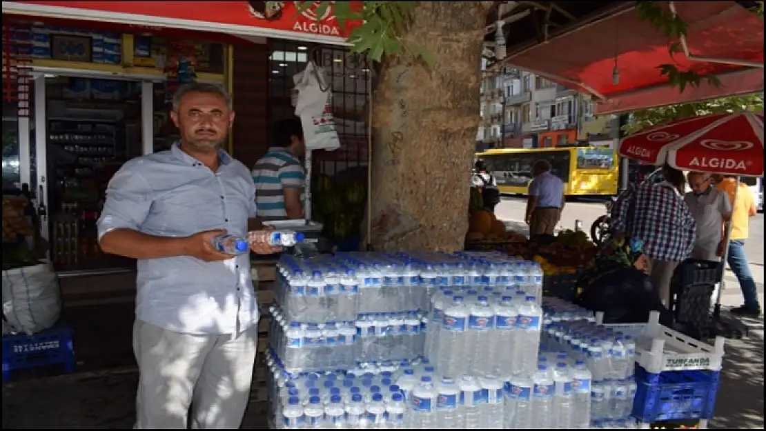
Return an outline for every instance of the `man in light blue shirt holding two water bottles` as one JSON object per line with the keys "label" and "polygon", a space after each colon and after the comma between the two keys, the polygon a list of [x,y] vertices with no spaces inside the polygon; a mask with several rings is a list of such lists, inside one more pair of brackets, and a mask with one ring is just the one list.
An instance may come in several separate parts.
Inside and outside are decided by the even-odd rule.
{"label": "man in light blue shirt holding two water bottles", "polygon": [[250,171],[221,149],[234,122],[229,96],[188,84],[175,93],[171,118],[181,140],[126,162],[98,220],[101,249],[138,260],[136,428],[239,428],[259,315],[249,255],[218,252],[211,239],[264,226]]}

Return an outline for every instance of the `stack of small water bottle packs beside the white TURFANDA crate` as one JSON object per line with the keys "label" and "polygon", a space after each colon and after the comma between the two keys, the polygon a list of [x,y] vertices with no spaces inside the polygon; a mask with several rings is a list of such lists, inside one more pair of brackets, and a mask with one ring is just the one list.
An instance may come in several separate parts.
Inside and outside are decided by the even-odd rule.
{"label": "stack of small water bottle packs beside the white TURFANDA crate", "polygon": [[633,380],[636,343],[631,335],[596,325],[593,315],[561,299],[545,299],[543,310],[538,370],[554,367],[555,389],[551,423],[542,425],[636,428],[630,417],[637,392]]}

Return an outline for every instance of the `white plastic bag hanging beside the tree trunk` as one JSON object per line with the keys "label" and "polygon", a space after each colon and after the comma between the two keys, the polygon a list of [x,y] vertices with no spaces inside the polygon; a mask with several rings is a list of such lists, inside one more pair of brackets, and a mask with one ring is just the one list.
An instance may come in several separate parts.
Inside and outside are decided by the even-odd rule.
{"label": "white plastic bag hanging beside the tree trunk", "polygon": [[332,117],[332,91],[325,72],[313,61],[306,64],[306,70],[293,77],[298,96],[295,100],[295,115],[303,125],[306,149],[340,148],[335,119]]}

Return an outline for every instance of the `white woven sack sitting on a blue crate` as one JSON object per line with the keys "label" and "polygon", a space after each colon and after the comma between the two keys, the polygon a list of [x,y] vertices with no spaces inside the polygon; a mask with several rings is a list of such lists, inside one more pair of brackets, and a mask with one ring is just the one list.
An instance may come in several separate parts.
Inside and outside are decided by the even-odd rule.
{"label": "white woven sack sitting on a blue crate", "polygon": [[49,263],[2,272],[2,334],[33,335],[61,315],[58,277]]}

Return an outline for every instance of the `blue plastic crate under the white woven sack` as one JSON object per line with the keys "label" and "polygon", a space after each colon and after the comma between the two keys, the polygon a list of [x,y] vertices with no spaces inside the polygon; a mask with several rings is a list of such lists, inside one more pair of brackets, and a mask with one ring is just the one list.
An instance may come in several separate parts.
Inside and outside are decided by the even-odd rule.
{"label": "blue plastic crate under the white woven sack", "polygon": [[26,334],[4,335],[2,338],[2,380],[22,368],[62,364],[64,372],[74,371],[72,330],[59,322],[29,337]]}

